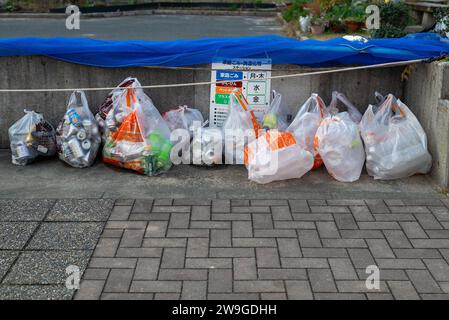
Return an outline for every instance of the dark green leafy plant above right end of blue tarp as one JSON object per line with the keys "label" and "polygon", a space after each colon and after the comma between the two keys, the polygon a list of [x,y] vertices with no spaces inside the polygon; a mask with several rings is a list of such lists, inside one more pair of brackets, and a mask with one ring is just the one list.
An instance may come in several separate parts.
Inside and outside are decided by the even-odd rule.
{"label": "dark green leafy plant above right end of blue tarp", "polygon": [[374,38],[399,38],[406,35],[404,29],[413,22],[410,8],[404,2],[376,1],[380,11],[380,28],[371,30]]}

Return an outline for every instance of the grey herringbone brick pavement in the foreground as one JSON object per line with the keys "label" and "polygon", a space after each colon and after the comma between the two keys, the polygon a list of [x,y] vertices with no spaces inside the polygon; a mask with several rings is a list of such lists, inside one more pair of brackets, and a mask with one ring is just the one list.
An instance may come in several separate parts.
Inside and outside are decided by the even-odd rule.
{"label": "grey herringbone brick pavement in the foreground", "polygon": [[[75,299],[448,299],[449,200],[117,200]],[[380,289],[365,286],[369,265]]]}

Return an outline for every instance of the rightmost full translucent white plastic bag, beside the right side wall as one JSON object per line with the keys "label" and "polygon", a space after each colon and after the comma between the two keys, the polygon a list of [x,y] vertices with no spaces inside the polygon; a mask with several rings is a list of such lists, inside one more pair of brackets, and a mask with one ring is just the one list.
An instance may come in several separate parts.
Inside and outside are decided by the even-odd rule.
{"label": "rightmost full translucent white plastic bag, beside the right side wall", "polygon": [[374,109],[370,105],[360,123],[368,174],[391,180],[428,173],[427,136],[410,109],[392,94]]}

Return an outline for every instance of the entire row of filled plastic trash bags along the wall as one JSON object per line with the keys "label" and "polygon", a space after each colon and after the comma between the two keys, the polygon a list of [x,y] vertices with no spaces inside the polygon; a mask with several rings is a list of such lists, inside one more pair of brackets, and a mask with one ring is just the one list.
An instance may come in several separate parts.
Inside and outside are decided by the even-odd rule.
{"label": "entire row of filled plastic trash bags along the wall", "polygon": [[432,157],[417,118],[391,94],[376,92],[375,99],[362,115],[342,93],[333,92],[328,106],[314,93],[291,121],[282,95],[273,91],[258,119],[235,89],[227,120],[215,128],[188,106],[161,115],[139,81],[127,78],[95,117],[84,92],[75,91],[56,131],[41,114],[25,111],[9,129],[12,162],[27,165],[58,153],[68,165],[86,168],[103,142],[104,163],[147,176],[181,163],[244,164],[249,179],[261,184],[299,179],[323,165],[341,182],[357,181],[365,165],[374,179],[428,173]]}

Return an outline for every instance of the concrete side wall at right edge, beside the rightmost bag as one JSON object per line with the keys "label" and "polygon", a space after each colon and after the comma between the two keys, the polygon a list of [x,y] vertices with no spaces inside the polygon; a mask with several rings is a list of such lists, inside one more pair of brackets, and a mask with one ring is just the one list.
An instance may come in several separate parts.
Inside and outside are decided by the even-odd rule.
{"label": "concrete side wall at right edge, beside the rightmost bag", "polygon": [[404,88],[405,102],[427,134],[432,177],[449,187],[449,63],[419,64]]}

